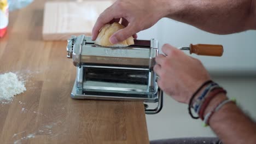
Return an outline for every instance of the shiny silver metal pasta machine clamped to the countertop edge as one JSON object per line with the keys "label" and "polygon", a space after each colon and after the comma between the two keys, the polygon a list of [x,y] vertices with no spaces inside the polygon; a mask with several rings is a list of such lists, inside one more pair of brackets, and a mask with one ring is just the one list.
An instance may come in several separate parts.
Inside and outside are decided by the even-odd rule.
{"label": "shiny silver metal pasta machine clamped to the countertop edge", "polygon": [[135,40],[128,47],[102,47],[91,37],[68,39],[67,57],[77,68],[71,97],[74,99],[128,100],[157,103],[147,114],[162,109],[163,92],[153,71],[158,41]]}

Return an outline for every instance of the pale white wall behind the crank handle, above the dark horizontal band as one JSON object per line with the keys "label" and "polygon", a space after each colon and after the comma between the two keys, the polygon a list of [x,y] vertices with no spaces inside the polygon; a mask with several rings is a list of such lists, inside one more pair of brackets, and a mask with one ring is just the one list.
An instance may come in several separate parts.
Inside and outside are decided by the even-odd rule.
{"label": "pale white wall behind the crank handle, above the dark horizontal band", "polygon": [[196,56],[212,73],[255,73],[256,74],[256,31],[229,35],[211,34],[193,26],[167,18],[155,26],[138,33],[138,39],[156,38],[160,46],[165,43],[176,47],[189,44],[222,44],[222,57]]}

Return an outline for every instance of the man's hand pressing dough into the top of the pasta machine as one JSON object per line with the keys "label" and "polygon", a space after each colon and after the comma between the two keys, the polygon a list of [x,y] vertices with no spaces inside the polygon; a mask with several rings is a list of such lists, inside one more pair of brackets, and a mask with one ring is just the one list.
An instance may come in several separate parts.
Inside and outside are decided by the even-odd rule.
{"label": "man's hand pressing dough into the top of the pasta machine", "polygon": [[162,3],[164,1],[117,0],[98,17],[92,29],[92,40],[97,38],[102,26],[109,22],[119,22],[120,18],[122,18],[122,25],[126,28],[114,33],[110,37],[110,42],[116,44],[132,35],[134,38],[137,38],[137,32],[152,27],[164,16],[165,10],[163,7],[160,7]]}

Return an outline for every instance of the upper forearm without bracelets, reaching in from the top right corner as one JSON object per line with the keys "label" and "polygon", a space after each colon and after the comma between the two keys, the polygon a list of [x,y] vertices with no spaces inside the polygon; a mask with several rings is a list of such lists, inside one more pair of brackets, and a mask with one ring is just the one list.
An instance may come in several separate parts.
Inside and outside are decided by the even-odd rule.
{"label": "upper forearm without bracelets, reaching in from the top right corner", "polygon": [[256,0],[170,0],[165,17],[204,31],[229,34],[256,29]]}

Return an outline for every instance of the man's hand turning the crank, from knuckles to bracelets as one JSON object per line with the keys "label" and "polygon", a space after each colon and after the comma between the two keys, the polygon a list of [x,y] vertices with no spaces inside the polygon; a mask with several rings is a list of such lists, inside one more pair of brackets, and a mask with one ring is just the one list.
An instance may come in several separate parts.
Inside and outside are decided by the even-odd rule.
{"label": "man's hand turning the crank, from knuckles to bracelets", "polygon": [[166,94],[181,103],[189,103],[189,99],[203,82],[210,80],[210,75],[202,63],[183,51],[165,44],[164,55],[155,58],[154,71],[159,75],[158,85]]}

